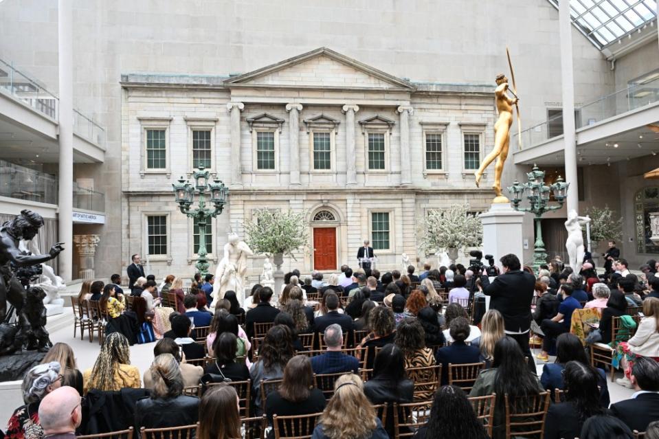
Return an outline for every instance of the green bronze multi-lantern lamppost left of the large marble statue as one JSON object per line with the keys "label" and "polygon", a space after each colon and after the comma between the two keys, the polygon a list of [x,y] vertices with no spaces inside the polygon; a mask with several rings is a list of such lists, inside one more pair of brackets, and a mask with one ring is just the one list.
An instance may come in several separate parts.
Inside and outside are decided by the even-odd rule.
{"label": "green bronze multi-lantern lamppost left of the large marble statue", "polygon": [[[227,203],[227,196],[229,190],[219,179],[214,179],[213,183],[209,183],[210,173],[204,170],[203,166],[199,166],[199,170],[192,173],[194,177],[194,185],[189,181],[179,178],[178,183],[172,183],[174,187],[175,200],[179,203],[179,210],[184,215],[197,220],[197,227],[199,227],[199,250],[197,251],[197,263],[194,267],[202,275],[208,273],[208,260],[206,260],[206,225],[210,218],[214,218],[222,213],[224,205]],[[205,196],[210,191],[210,202],[214,205],[214,210],[206,207]],[[198,207],[190,209],[194,201],[195,192],[199,196],[197,201]]]}

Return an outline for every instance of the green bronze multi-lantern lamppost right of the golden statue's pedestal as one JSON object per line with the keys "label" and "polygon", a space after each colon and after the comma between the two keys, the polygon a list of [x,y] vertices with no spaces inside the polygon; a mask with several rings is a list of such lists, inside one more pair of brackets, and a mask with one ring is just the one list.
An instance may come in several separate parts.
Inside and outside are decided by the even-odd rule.
{"label": "green bronze multi-lantern lamppost right of the golden statue's pedestal", "polygon": [[[519,183],[517,180],[513,185],[508,188],[508,192],[512,195],[511,203],[513,208],[520,212],[530,212],[535,215],[535,249],[533,251],[533,269],[537,271],[540,269],[541,264],[547,263],[547,253],[545,245],[542,241],[542,227],[540,220],[545,212],[557,210],[563,207],[568,192],[570,183],[563,181],[559,175],[556,183],[551,185],[544,184],[545,172],[538,169],[537,165],[533,165],[533,170],[526,173],[528,183]],[[520,207],[524,191],[528,190],[526,199],[530,204],[529,207]],[[548,205],[549,192],[554,193],[554,198],[558,201],[558,205]]]}

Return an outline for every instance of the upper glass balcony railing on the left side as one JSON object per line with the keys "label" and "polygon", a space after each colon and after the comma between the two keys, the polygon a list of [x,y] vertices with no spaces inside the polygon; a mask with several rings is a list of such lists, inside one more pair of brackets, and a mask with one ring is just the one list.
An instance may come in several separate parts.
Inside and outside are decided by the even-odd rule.
{"label": "upper glass balcony railing on the left side", "polygon": [[[59,121],[59,99],[36,80],[17,70],[14,65],[0,60],[0,89],[7,91],[16,100],[30,108]],[[105,146],[105,129],[90,117],[74,109],[74,133],[93,144]]]}

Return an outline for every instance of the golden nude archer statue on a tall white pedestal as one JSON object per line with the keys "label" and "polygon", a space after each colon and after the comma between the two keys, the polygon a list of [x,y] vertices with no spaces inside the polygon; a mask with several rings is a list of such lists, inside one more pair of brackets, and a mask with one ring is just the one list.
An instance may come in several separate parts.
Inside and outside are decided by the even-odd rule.
{"label": "golden nude archer statue on a tall white pedestal", "polygon": [[509,134],[513,124],[513,105],[517,104],[519,99],[517,97],[509,98],[506,91],[508,91],[508,78],[504,74],[499,74],[497,76],[497,88],[494,91],[497,110],[499,112],[499,118],[494,124],[494,149],[483,159],[480,168],[476,171],[476,186],[478,187],[485,168],[494,159],[497,159],[497,163],[494,166],[494,185],[492,186],[496,193],[493,203],[509,203],[509,199],[501,193],[501,174],[504,170],[504,162],[508,157],[511,141]]}

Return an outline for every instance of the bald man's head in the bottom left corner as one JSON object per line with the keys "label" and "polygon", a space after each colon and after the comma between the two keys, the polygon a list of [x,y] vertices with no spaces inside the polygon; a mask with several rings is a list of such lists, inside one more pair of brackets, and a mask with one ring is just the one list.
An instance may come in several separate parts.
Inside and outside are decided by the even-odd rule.
{"label": "bald man's head in the bottom left corner", "polygon": [[74,439],[82,421],[82,398],[78,390],[65,385],[41,400],[39,423],[48,439]]}

